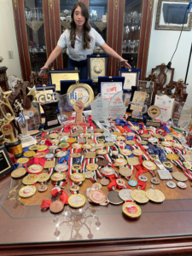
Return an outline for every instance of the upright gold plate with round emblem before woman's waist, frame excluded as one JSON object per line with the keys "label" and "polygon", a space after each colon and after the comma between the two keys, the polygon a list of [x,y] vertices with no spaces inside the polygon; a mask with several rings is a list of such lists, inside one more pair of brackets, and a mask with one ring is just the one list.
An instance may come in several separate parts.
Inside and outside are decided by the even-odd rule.
{"label": "upright gold plate with round emblem before woman's waist, frame excluded", "polygon": [[105,76],[105,58],[91,58],[90,59],[90,79],[93,83],[98,82],[98,76]]}

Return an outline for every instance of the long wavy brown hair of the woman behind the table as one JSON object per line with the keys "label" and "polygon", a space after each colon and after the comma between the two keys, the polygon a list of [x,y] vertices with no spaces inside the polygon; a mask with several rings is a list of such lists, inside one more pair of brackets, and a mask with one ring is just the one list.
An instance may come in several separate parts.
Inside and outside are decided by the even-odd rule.
{"label": "long wavy brown hair of the woman behind the table", "polygon": [[82,42],[83,48],[84,49],[90,49],[90,40],[91,40],[91,37],[89,35],[90,28],[91,28],[90,27],[90,21],[89,21],[90,15],[89,15],[88,9],[86,8],[86,5],[82,2],[77,2],[73,5],[73,10],[72,10],[72,15],[71,15],[72,21],[71,21],[70,27],[69,27],[71,46],[74,49],[76,24],[74,22],[73,15],[74,15],[75,9],[77,9],[78,6],[81,8],[82,15],[84,15],[84,18],[85,18],[84,34],[83,34],[83,42]]}

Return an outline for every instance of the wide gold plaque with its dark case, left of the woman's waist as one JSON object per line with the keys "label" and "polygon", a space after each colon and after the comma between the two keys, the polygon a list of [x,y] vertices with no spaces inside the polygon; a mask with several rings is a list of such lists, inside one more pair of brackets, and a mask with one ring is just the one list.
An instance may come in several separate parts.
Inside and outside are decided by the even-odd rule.
{"label": "wide gold plaque with its dark case, left of the woman's waist", "polygon": [[61,90],[61,81],[63,80],[79,80],[80,70],[64,69],[49,69],[49,84],[55,84],[55,90]]}

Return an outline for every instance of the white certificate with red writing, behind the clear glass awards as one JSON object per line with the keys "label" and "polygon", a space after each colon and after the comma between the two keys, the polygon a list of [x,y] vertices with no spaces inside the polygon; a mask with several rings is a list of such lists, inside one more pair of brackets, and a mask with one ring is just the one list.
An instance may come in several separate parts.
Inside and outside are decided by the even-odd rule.
{"label": "white certificate with red writing, behind the clear glass awards", "polygon": [[110,101],[112,97],[115,95],[115,93],[122,90],[122,87],[123,85],[121,82],[102,82],[101,83],[102,98]]}

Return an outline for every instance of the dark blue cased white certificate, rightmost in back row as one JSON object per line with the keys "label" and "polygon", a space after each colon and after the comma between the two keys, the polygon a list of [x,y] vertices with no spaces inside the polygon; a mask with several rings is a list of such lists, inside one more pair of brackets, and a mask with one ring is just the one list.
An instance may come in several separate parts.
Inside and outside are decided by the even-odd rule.
{"label": "dark blue cased white certificate, rightmost in back row", "polygon": [[124,69],[121,68],[118,70],[119,77],[125,78],[124,88],[125,91],[131,91],[131,86],[137,86],[138,80],[141,76],[141,69]]}

